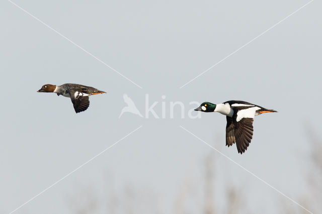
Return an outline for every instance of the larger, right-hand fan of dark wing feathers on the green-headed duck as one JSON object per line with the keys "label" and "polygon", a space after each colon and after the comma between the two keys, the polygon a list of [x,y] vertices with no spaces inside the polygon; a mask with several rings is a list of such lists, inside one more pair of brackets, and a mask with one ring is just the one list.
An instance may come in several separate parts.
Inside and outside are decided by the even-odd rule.
{"label": "larger, right-hand fan of dark wing feathers on the green-headed duck", "polygon": [[234,135],[238,153],[243,154],[247,150],[253,138],[253,118],[242,118],[238,122],[233,119],[235,126]]}

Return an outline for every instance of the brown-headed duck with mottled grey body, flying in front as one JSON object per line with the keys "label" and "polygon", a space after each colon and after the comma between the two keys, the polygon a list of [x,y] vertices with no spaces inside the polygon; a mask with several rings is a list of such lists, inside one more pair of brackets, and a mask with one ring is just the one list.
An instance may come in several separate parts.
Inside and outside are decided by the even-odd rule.
{"label": "brown-headed duck with mottled grey body, flying in front", "polygon": [[62,85],[45,84],[37,92],[53,92],[58,96],[70,97],[76,113],[84,112],[90,106],[89,96],[106,93],[91,86],[66,83]]}

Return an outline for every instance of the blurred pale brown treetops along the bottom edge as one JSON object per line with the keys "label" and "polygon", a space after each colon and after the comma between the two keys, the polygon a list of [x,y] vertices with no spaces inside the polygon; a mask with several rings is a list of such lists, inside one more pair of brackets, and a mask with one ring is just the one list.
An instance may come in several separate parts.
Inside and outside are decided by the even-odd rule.
{"label": "blurred pale brown treetops along the bottom edge", "polygon": [[[309,129],[311,130],[311,129]],[[310,152],[306,156],[309,167],[303,176],[306,183],[307,191],[301,193],[299,198],[293,198],[302,206],[312,211],[313,213],[320,213],[322,210],[322,140],[317,137],[315,133],[308,131]],[[244,198],[247,197],[245,192],[238,189],[238,187],[229,186],[226,188],[226,209],[219,210],[216,207],[216,201],[219,196],[215,195],[215,159],[214,153],[210,153],[204,161],[204,202],[203,204],[194,204],[199,206],[201,210],[199,213],[215,214],[215,213],[250,213],[248,207],[245,207]],[[185,184],[184,184],[185,185]],[[192,188],[191,184],[187,184],[187,188]],[[176,200],[174,202],[173,212],[175,214],[190,214],[195,213],[187,208],[187,203],[194,200],[191,197],[191,192],[180,189]],[[296,187],[294,187],[296,188]],[[97,194],[91,188],[84,189],[81,193],[72,195],[68,200],[71,212],[75,214],[93,214],[93,213],[128,213],[128,214],[160,214],[160,202],[157,194],[141,189],[136,189],[132,186],[127,186],[121,192],[109,192],[105,198],[98,198]],[[189,198],[191,197],[191,198]],[[220,199],[222,200],[222,195]],[[189,204],[188,204],[189,205]],[[306,210],[290,203],[290,201],[278,195],[276,198],[276,206],[279,207],[280,213],[308,213]]]}

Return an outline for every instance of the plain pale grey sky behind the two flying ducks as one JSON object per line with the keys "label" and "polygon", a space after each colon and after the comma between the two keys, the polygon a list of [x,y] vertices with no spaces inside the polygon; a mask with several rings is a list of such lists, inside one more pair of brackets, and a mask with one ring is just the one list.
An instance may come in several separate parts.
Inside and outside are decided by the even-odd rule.
{"label": "plain pale grey sky behind the two flying ducks", "polygon": [[[190,212],[204,201],[204,160],[214,153],[216,205],[224,212],[225,187],[245,195],[245,210],[279,211],[284,197],[212,150],[180,126],[298,201],[305,193],[309,137],[320,130],[321,3],[313,1],[217,66],[180,87],[309,1],[14,1],[121,75],[9,1],[0,3],[1,105],[0,212],[17,207],[128,133],[107,152],[14,213],[72,213],[70,198],[90,188],[105,213],[103,196],[126,186],[145,195],[133,213],[174,213],[190,183]],[[46,83],[79,83],[107,91],[91,96],[75,114],[70,99],[37,93]],[[123,94],[144,114],[145,94],[158,101],[249,101],[277,114],[255,118],[243,155],[225,147],[226,119],[149,119],[124,114]],[[166,99],[162,99],[166,95]],[[168,109],[169,110],[169,109]],[[167,114],[168,114],[167,110]],[[320,136],[320,134],[317,134]],[[189,184],[189,185],[190,185]],[[188,186],[189,186],[188,185]],[[121,194],[121,193],[120,193]],[[300,201],[298,201],[300,202]],[[288,206],[302,210],[285,198]],[[103,204],[103,205],[101,205]],[[264,208],[263,208],[264,207]],[[142,211],[143,210],[143,211]],[[122,211],[116,212],[122,213]],[[245,211],[243,212],[245,213]]]}

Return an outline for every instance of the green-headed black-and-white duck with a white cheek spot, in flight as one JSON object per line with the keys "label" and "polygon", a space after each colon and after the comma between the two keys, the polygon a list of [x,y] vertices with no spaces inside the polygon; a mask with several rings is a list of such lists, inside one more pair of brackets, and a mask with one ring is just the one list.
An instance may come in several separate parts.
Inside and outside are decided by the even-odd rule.
{"label": "green-headed black-and-white duck with a white cheek spot, in flight", "polygon": [[277,112],[265,109],[262,106],[246,101],[229,100],[219,104],[203,102],[195,111],[218,112],[226,116],[226,146],[236,143],[237,151],[245,153],[253,139],[254,117],[270,112]]}

